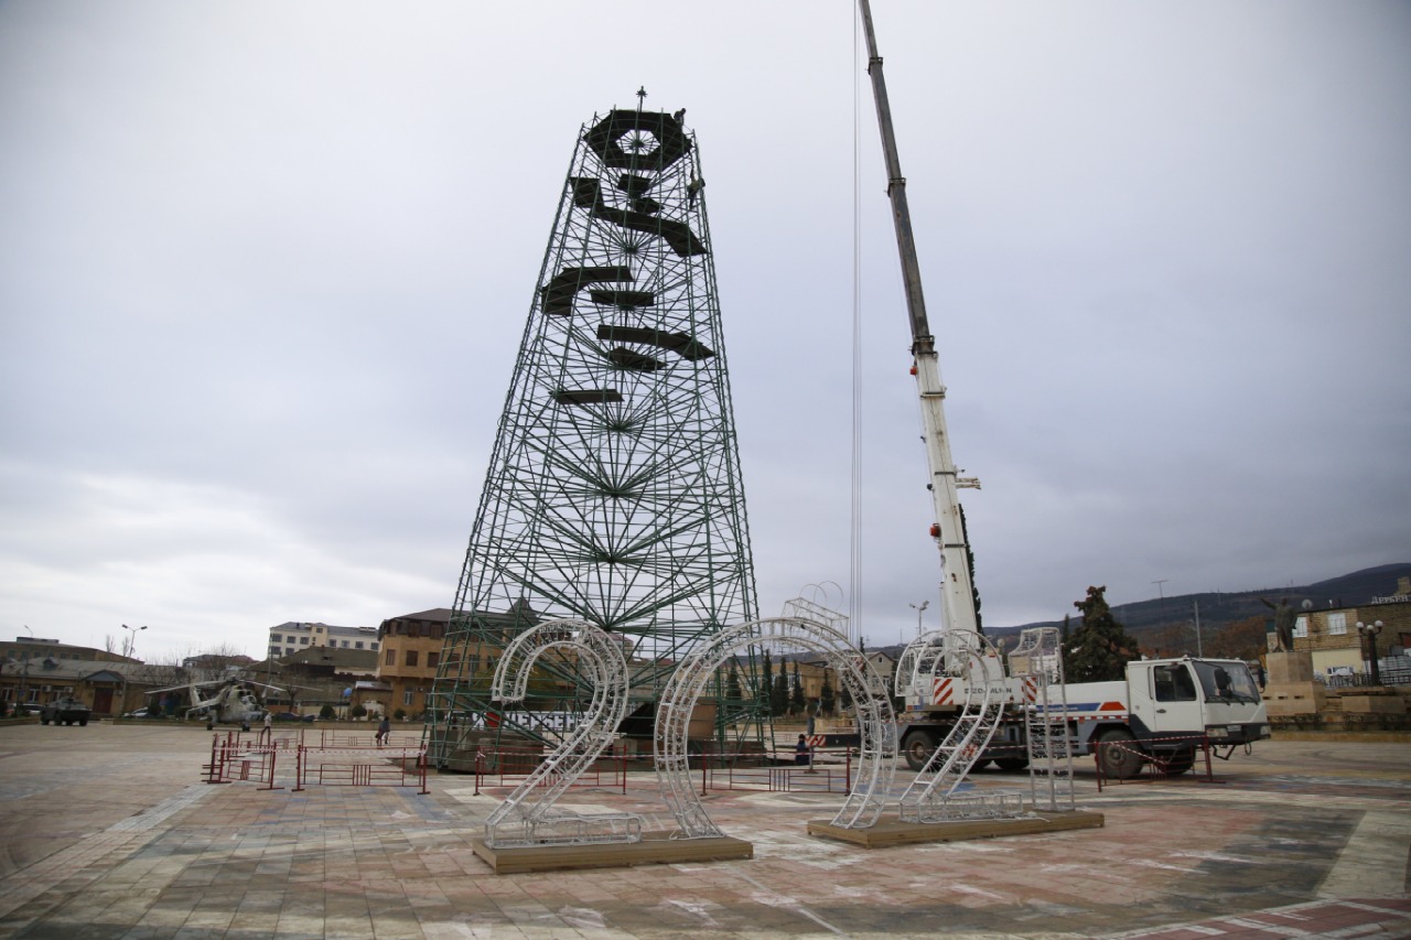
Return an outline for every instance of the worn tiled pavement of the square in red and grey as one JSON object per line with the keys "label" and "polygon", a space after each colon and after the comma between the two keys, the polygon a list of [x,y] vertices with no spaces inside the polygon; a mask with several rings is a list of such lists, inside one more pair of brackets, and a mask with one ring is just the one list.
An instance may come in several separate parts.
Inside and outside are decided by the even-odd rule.
{"label": "worn tiled pavement of the square in red and grey", "polygon": [[[713,793],[753,860],[499,876],[470,840],[504,790],[206,786],[209,751],[0,728],[0,937],[1411,937],[1407,744],[1276,741],[1213,785],[1082,773],[1105,828],[872,851],[806,834],[840,797]],[[563,805],[670,827],[650,773]]]}

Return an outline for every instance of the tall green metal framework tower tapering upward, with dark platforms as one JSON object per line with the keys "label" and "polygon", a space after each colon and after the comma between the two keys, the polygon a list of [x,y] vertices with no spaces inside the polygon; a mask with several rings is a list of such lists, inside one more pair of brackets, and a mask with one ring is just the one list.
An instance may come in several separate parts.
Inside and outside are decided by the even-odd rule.
{"label": "tall green metal framework tower tapering upward, with dark platforms", "polygon": [[[583,127],[563,186],[440,656],[442,757],[453,727],[571,724],[591,679],[570,658],[539,662],[526,707],[490,700],[536,622],[622,644],[645,737],[676,663],[758,618],[698,151],[684,112],[643,97]],[[725,685],[717,733],[755,711]]]}

